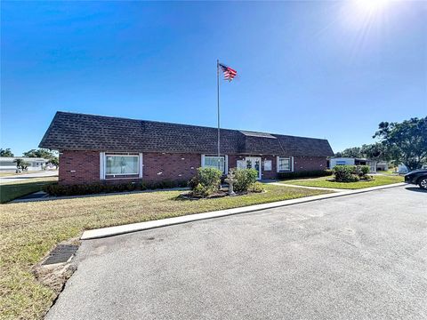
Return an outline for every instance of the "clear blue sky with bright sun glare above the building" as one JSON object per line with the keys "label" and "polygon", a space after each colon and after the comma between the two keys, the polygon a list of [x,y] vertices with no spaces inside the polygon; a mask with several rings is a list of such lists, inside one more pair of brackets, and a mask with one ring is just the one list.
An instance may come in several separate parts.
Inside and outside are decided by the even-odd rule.
{"label": "clear blue sky with bright sun glare above the building", "polygon": [[[383,0],[380,0],[383,1]],[[57,110],[371,143],[427,115],[427,3],[2,2],[1,148]]]}

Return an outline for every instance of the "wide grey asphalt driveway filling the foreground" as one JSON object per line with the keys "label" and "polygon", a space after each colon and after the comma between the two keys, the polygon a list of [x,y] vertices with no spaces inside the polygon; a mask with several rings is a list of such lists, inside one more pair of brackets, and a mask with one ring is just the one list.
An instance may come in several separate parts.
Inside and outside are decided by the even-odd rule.
{"label": "wide grey asphalt driveway filling the foreground", "polygon": [[77,261],[47,319],[426,319],[427,193],[85,241]]}

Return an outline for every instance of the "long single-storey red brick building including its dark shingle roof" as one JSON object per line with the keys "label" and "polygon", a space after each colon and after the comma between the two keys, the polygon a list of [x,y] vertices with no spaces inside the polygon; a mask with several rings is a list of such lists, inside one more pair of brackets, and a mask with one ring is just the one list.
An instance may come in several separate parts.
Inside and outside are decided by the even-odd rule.
{"label": "long single-storey red brick building including its dark shingle roof", "polygon": [[111,116],[57,112],[40,148],[60,151],[60,184],[189,180],[198,167],[254,168],[259,179],[278,172],[326,169],[327,140],[217,129]]}

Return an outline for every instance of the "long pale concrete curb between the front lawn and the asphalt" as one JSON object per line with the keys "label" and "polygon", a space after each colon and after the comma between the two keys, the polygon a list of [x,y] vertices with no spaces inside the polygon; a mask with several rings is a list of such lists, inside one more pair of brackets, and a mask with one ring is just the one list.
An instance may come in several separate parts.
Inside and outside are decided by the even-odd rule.
{"label": "long pale concrete curb between the front lawn and the asphalt", "polygon": [[342,192],[336,192],[336,193],[331,193],[327,195],[306,196],[303,198],[278,201],[278,202],[269,203],[269,204],[254,204],[254,205],[249,205],[245,207],[220,210],[216,212],[195,213],[195,214],[189,214],[181,217],[166,218],[162,220],[152,220],[152,221],[146,221],[146,222],[131,223],[131,224],[117,226],[117,227],[99,228],[99,229],[85,231],[83,235],[80,237],[80,239],[90,240],[90,239],[102,238],[107,236],[118,236],[118,235],[123,235],[126,233],[135,232],[135,231],[148,230],[151,228],[161,228],[161,227],[173,226],[176,224],[188,223],[188,222],[197,221],[197,220],[220,218],[220,217],[225,217],[225,216],[239,214],[239,213],[257,212],[264,209],[278,208],[281,206],[292,205],[292,204],[303,204],[311,201],[334,198],[337,196],[356,195],[356,194],[380,190],[384,188],[401,187],[404,185],[406,184],[403,182],[400,182],[400,183],[394,183],[394,184],[379,186],[379,187],[364,188],[364,189],[357,189],[357,190],[345,190]]}

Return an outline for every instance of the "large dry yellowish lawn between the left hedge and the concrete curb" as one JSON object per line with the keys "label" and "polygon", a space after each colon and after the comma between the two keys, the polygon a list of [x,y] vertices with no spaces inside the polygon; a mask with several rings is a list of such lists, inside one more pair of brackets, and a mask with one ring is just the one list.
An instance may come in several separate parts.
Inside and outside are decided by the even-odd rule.
{"label": "large dry yellowish lawn between the left hedge and the concrete curb", "polygon": [[164,219],[197,212],[264,204],[324,190],[266,185],[266,192],[197,201],[176,200],[180,191],[92,196],[0,204],[0,318],[41,319],[56,293],[37,282],[31,267],[55,244],[85,229]]}

